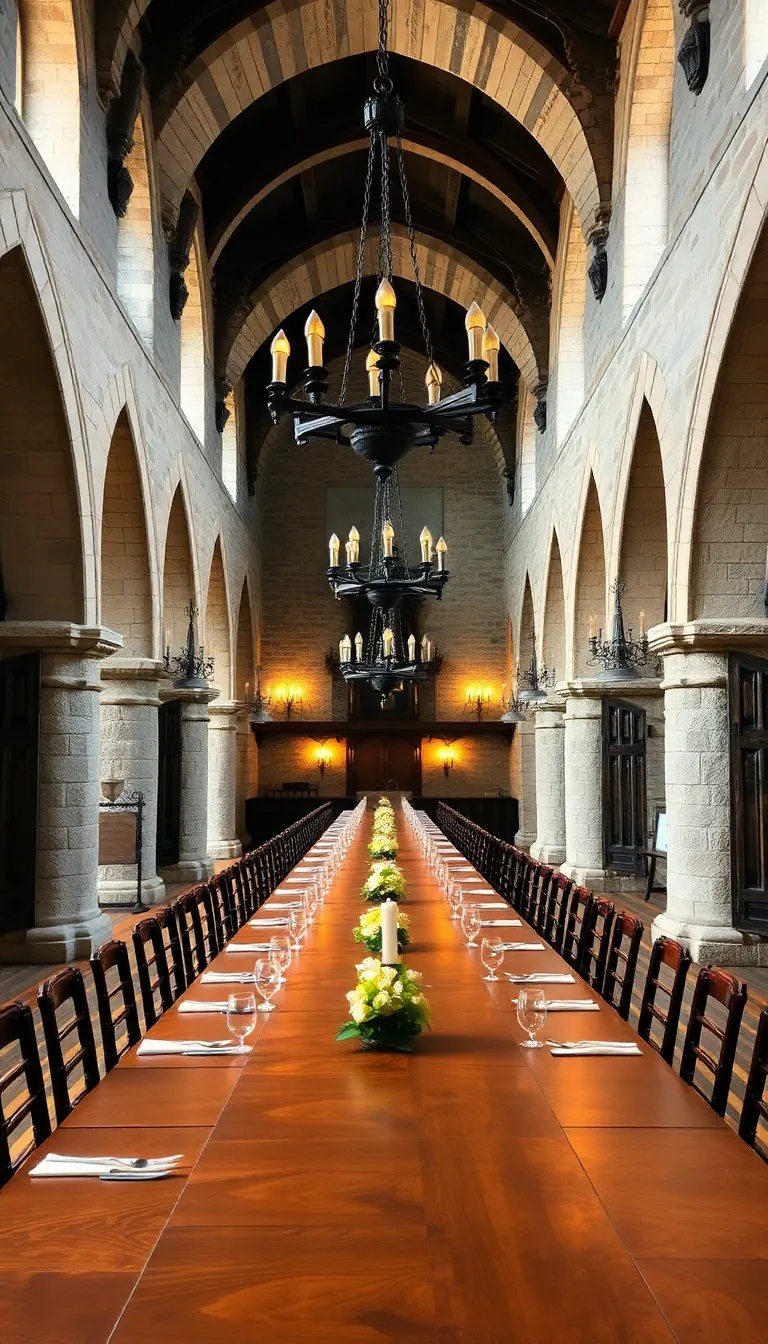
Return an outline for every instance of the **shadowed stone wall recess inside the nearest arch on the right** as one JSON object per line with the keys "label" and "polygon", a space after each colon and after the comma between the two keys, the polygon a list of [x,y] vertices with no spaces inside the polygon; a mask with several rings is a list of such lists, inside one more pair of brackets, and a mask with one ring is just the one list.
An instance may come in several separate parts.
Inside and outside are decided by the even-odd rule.
{"label": "shadowed stone wall recess inside the nearest arch on the right", "polygon": [[768,547],[768,226],[728,335],[698,473],[691,617],[760,620]]}

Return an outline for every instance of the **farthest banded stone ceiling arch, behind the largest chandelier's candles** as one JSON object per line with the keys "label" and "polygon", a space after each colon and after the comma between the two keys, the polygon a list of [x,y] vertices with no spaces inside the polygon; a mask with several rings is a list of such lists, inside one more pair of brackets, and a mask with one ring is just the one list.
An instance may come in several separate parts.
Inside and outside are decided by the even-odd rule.
{"label": "farthest banded stone ceiling arch, behind the largest chandelier's candles", "polygon": [[[233,387],[260,345],[296,308],[355,278],[356,247],[355,234],[338,234],[288,262],[256,290],[247,313],[238,316],[222,355],[226,379]],[[464,308],[473,298],[480,304],[518,366],[521,378],[533,391],[546,376],[546,332],[539,335],[534,351],[533,336],[515,312],[508,292],[483,266],[456,249],[417,233],[416,254],[425,288],[453,298]],[[375,273],[377,239],[370,237],[364,274]],[[397,227],[393,228],[393,274],[413,278],[408,237]]]}

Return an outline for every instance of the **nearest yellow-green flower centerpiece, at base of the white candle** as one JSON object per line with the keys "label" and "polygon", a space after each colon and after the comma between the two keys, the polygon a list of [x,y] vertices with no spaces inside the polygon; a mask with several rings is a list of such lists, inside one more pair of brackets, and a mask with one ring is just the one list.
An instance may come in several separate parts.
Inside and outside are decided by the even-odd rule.
{"label": "nearest yellow-green flower centerpiece, at base of the white candle", "polygon": [[420,989],[421,973],[408,966],[382,966],[366,957],[358,984],[347,995],[350,1021],[342,1023],[336,1040],[355,1036],[366,1047],[410,1050],[410,1042],[429,1025],[429,1003]]}

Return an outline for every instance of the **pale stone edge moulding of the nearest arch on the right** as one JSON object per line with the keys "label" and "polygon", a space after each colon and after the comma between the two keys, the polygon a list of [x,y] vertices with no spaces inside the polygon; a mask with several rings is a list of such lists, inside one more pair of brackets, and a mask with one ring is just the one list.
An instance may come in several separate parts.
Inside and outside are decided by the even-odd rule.
{"label": "pale stone edge moulding of the nearest arch on the right", "polygon": [[[752,187],[736,227],[725,274],[699,364],[683,464],[681,503],[677,509],[670,620],[683,622],[691,613],[693,534],[697,515],[698,481],[709,426],[714,410],[724,352],[736,321],[741,296],[768,218],[768,149],[763,152]],[[663,437],[662,437],[663,448]]]}

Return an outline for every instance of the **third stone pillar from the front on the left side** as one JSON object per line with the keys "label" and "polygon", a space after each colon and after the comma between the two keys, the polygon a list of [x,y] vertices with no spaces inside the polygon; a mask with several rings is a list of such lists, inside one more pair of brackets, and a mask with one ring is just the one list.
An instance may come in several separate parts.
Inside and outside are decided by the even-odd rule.
{"label": "third stone pillar from the front on the left side", "polygon": [[182,702],[182,801],[179,863],[163,870],[165,882],[203,882],[208,859],[208,704],[217,691],[161,689],[160,699]]}

